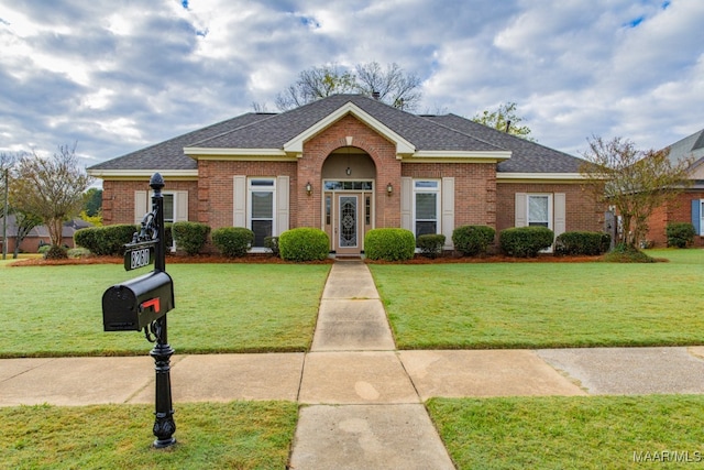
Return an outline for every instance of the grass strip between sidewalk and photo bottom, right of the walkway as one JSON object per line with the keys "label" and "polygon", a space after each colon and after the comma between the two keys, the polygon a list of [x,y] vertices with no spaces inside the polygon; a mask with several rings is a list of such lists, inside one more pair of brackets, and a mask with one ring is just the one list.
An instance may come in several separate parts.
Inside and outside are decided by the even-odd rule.
{"label": "grass strip between sidewalk and photo bottom, right of the walkway", "polygon": [[427,407],[460,470],[704,462],[701,395],[432,398]]}

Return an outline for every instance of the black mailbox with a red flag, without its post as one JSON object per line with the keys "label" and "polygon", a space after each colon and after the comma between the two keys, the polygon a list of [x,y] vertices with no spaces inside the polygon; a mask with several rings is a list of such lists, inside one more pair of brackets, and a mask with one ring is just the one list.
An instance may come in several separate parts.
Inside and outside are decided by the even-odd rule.
{"label": "black mailbox with a red flag, without its post", "polygon": [[140,331],[174,308],[174,284],[163,271],[152,271],[102,294],[105,331]]}

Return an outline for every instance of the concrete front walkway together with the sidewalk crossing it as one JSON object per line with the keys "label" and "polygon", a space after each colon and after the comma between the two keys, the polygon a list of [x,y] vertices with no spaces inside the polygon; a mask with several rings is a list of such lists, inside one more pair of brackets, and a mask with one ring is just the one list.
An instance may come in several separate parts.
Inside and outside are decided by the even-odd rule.
{"label": "concrete front walkway together with the sidewalk crossing it", "polygon": [[[176,354],[172,389],[175,407],[301,403],[294,469],[452,469],[429,397],[700,394],[703,358],[704,347],[397,351],[369,269],[338,261],[310,352]],[[43,403],[154,403],[154,362],[146,353],[1,360],[0,406]]]}

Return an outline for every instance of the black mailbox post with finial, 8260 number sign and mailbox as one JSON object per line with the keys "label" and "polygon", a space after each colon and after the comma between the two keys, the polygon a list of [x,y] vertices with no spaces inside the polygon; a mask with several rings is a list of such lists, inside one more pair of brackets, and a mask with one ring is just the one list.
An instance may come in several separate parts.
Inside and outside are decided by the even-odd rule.
{"label": "black mailbox post with finial, 8260 number sign and mailbox", "polygon": [[[125,245],[124,267],[128,271],[152,262],[148,274],[109,287],[102,295],[102,325],[106,331],[144,330],[147,340],[155,342],[150,356],[156,371],[154,412],[154,447],[176,444],[174,409],[172,407],[170,357],[166,313],[175,307],[174,283],[166,273],[166,237],[164,233],[164,178],[155,173],[150,179],[152,211],[144,216],[142,229]],[[152,254],[154,259],[152,260]]]}

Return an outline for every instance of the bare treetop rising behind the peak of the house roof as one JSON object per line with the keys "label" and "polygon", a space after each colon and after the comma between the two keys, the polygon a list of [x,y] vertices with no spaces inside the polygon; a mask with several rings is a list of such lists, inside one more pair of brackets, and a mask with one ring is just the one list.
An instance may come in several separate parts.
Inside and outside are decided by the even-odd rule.
{"label": "bare treetop rising behind the peak of the house roof", "polygon": [[[332,64],[300,72],[296,81],[277,95],[275,102],[279,110],[285,111],[331,95],[361,94],[378,96],[381,101],[395,108],[414,110],[421,98],[419,87],[418,76],[406,74],[397,64],[383,68],[371,62],[358,64],[353,69]],[[260,103],[253,107],[255,110],[266,109]]]}

